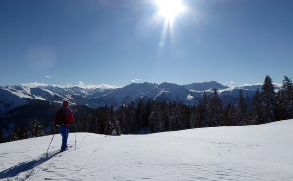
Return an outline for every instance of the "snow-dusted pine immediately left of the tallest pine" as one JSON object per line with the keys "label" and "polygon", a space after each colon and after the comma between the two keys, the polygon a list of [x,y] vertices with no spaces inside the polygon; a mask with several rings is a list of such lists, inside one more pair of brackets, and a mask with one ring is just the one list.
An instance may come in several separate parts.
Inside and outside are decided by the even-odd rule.
{"label": "snow-dusted pine immediately left of the tallest pine", "polygon": [[257,89],[256,92],[254,93],[254,96],[252,98],[252,103],[251,103],[251,117],[252,121],[251,124],[262,124],[262,106],[261,106],[261,94],[259,90]]}

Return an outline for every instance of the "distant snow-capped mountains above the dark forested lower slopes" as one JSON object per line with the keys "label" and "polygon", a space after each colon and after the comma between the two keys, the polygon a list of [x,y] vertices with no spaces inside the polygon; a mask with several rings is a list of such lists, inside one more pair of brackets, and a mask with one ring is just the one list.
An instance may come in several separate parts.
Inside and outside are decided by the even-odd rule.
{"label": "distant snow-capped mountains above the dark forested lower slopes", "polygon": [[[193,83],[188,85],[177,85],[171,83],[132,83],[122,88],[101,87],[101,88],[80,88],[80,87],[58,87],[58,86],[39,86],[27,87],[5,86],[0,87],[0,114],[11,110],[17,106],[26,104],[32,100],[45,100],[49,102],[62,103],[64,99],[69,100],[71,104],[82,104],[92,108],[98,108],[101,105],[113,106],[118,108],[124,103],[140,99],[153,99],[157,101],[176,101],[178,103],[197,105],[203,91],[209,94],[214,89],[219,91],[223,99],[223,104],[236,103],[239,90],[243,90],[243,95],[251,99],[258,86],[245,86],[242,88],[229,88],[215,81],[204,83]],[[249,102],[249,100],[248,100]]]}

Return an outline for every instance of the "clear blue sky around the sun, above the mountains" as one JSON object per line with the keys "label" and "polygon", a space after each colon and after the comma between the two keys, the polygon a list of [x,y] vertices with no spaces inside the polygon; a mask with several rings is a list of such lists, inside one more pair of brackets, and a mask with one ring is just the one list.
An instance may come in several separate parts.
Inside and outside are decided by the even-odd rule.
{"label": "clear blue sky around the sun, above the mountains", "polygon": [[[292,0],[0,0],[0,86],[293,78]],[[167,22],[167,26],[166,26]]]}

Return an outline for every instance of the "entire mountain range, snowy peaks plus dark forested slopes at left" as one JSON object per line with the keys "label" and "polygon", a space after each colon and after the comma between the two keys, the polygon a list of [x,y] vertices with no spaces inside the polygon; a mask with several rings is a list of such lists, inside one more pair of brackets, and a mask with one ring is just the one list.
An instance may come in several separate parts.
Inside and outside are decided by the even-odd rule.
{"label": "entire mountain range, snowy peaks plus dark forested slopes at left", "polygon": [[[275,84],[275,86],[278,86]],[[206,91],[208,96],[218,90],[223,105],[236,104],[239,90],[242,90],[248,108],[252,97],[262,85],[233,87],[211,81],[177,85],[172,83],[132,83],[125,87],[99,86],[98,88],[24,85],[0,87],[0,130],[7,136],[13,129],[27,128],[30,120],[37,118],[46,130],[50,129],[52,118],[63,100],[70,102],[70,108],[77,117],[88,116],[92,109],[113,106],[116,110],[123,104],[139,100],[176,102],[197,105]],[[278,89],[278,87],[275,87]]]}

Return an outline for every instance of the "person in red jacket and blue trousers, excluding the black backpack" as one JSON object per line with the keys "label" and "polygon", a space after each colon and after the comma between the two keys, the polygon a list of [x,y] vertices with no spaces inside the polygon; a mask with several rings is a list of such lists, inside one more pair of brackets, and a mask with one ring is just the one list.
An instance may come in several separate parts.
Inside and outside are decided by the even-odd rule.
{"label": "person in red jacket and blue trousers, excluding the black backpack", "polygon": [[59,128],[59,131],[62,135],[62,145],[61,145],[60,152],[63,152],[63,151],[65,151],[65,149],[67,147],[67,139],[68,139],[68,135],[69,135],[70,122],[74,122],[75,118],[73,117],[72,111],[69,109],[69,102],[68,101],[63,101],[63,105],[61,106],[60,109],[65,110],[66,120],[68,121],[68,123],[64,124],[63,126],[56,125],[56,123],[55,123],[56,115],[54,116],[53,121],[54,121],[55,127]]}

